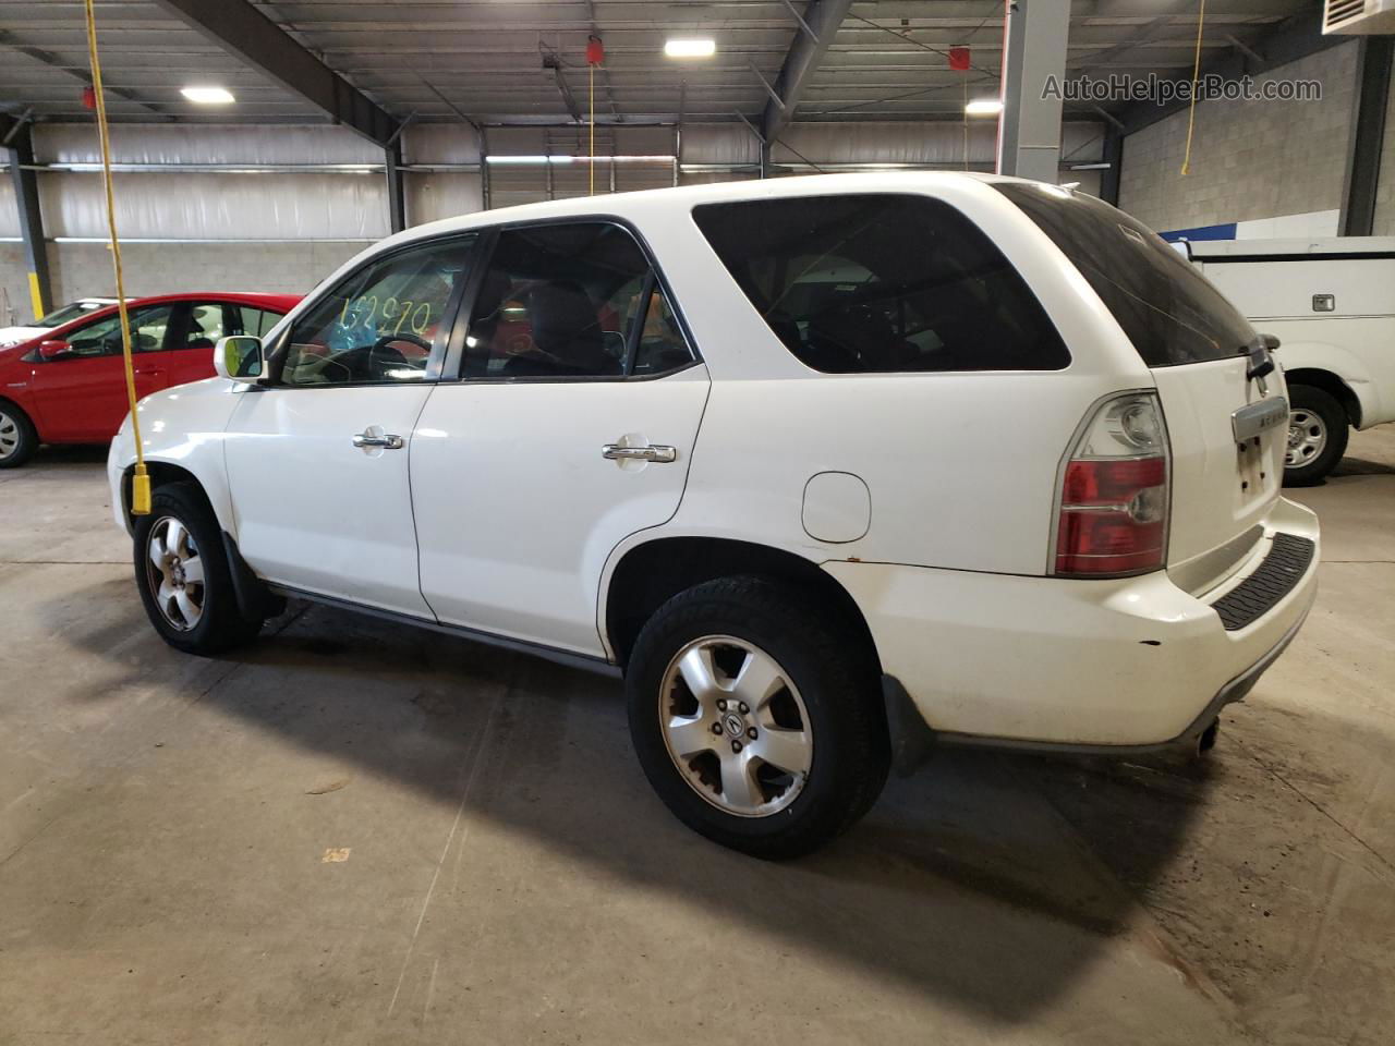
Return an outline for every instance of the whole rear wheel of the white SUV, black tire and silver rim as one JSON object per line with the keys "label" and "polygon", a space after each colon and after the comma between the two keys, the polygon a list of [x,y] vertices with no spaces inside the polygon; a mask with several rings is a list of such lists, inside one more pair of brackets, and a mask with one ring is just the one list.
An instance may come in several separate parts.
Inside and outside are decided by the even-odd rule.
{"label": "whole rear wheel of the white SUV, black tire and silver rim", "polygon": [[890,743],[879,679],[850,632],[762,577],[706,582],[658,608],[625,676],[629,728],[684,824],[784,859],[870,809]]}

